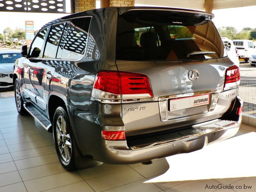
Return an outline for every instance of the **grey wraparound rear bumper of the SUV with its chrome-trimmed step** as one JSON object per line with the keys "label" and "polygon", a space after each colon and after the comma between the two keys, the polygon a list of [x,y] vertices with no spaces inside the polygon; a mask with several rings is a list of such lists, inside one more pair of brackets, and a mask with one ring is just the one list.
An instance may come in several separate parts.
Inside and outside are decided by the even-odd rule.
{"label": "grey wraparound rear bumper of the SUV with its chrome-trimmed step", "polygon": [[[91,112],[95,110],[97,115],[92,116],[93,113],[84,113],[73,107],[69,110],[73,117],[71,124],[76,127],[73,132],[80,154],[109,164],[132,164],[179,153],[189,153],[209,143],[234,136],[242,120],[242,115],[237,115],[236,111],[243,106],[243,101],[236,96],[229,107],[230,110],[214,120],[174,129],[169,125],[170,128],[165,131],[147,133],[152,134],[153,137],[142,134],[139,135],[140,137],[130,136],[126,140],[116,141],[104,140],[102,130],[124,130],[121,116],[117,118],[121,111],[120,105],[112,105],[109,108],[107,104],[92,102],[90,106]],[[100,115],[102,111],[104,115]]]}

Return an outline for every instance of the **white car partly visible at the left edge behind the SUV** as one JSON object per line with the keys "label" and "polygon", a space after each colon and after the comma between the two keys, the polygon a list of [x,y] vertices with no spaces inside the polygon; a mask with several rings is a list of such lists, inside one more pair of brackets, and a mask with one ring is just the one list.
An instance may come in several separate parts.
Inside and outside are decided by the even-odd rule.
{"label": "white car partly visible at the left edge behind the SUV", "polygon": [[12,86],[13,65],[21,58],[20,50],[0,51],[0,88]]}

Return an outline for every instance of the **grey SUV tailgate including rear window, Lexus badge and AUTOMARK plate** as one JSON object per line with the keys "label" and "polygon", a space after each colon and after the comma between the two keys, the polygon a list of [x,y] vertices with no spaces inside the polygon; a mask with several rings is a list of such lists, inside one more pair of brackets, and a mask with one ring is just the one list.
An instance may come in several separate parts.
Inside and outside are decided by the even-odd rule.
{"label": "grey SUV tailgate including rear window, Lexus badge and AUTOMARK plate", "polygon": [[225,70],[232,65],[212,21],[131,11],[119,15],[117,23],[118,70],[148,76],[154,95],[148,102],[123,100],[127,136],[218,118],[198,118],[212,110],[212,94],[223,89]]}

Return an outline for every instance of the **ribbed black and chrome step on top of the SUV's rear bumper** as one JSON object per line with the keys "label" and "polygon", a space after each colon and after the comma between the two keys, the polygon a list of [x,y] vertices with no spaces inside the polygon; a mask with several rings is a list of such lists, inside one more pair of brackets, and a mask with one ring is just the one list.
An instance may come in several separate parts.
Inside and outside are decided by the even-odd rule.
{"label": "ribbed black and chrome step on top of the SUV's rear bumper", "polygon": [[[212,132],[217,132],[237,125],[237,121],[215,119],[212,121],[196,124],[193,126],[172,129],[163,132],[149,133],[141,136],[127,138],[127,145],[132,150],[166,145],[182,140],[192,139]],[[147,137],[147,138],[145,138]]]}

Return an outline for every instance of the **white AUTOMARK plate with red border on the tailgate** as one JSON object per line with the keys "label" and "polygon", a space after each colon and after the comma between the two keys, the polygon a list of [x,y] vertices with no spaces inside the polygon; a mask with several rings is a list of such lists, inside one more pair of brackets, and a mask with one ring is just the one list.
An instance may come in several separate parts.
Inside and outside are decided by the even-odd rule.
{"label": "white AUTOMARK plate with red border on the tailgate", "polygon": [[195,95],[191,97],[182,97],[170,100],[170,111],[208,105],[210,103],[210,94]]}

